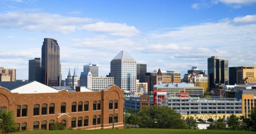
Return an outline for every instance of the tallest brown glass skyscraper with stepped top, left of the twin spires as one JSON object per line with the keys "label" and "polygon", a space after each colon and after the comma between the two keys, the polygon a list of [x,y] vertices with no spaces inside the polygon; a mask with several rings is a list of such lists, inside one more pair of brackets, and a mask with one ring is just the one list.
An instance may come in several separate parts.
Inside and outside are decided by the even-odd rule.
{"label": "tallest brown glass skyscraper with stepped top, left of the twin spires", "polygon": [[44,38],[42,45],[42,83],[59,86],[60,81],[60,47],[57,40]]}

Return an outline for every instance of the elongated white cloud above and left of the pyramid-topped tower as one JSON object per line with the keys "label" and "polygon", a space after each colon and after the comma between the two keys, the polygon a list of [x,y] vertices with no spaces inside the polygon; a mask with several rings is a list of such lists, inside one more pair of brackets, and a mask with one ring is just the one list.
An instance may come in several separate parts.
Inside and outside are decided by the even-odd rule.
{"label": "elongated white cloud above and left of the pyramid-topped tower", "polygon": [[81,29],[94,32],[109,33],[113,36],[124,37],[132,37],[140,33],[140,31],[137,30],[134,26],[128,26],[126,24],[120,23],[97,22],[95,24],[84,25]]}

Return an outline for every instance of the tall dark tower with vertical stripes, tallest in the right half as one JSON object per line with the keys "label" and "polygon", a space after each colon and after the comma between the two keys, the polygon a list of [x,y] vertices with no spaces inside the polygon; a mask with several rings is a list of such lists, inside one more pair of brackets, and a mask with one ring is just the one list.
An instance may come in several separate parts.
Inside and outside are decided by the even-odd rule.
{"label": "tall dark tower with vertical stripes, tallest in the right half", "polygon": [[211,56],[208,58],[208,75],[210,88],[229,85],[229,61],[220,59],[218,56]]}

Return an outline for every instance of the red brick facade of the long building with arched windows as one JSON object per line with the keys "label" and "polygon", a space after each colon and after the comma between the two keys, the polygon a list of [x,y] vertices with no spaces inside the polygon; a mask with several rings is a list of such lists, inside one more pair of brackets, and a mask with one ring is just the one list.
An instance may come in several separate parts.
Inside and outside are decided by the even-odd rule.
{"label": "red brick facade of the long building with arched windows", "polygon": [[[13,111],[15,122],[20,125],[20,130],[25,129],[25,125],[27,130],[44,127],[49,129],[50,123],[64,121],[67,128],[112,129],[112,122],[117,120],[114,123],[114,128],[123,128],[123,100],[124,91],[115,85],[104,91],[67,92],[61,90],[57,93],[31,94],[12,93],[6,88],[0,87],[0,109],[6,108],[8,111]],[[94,105],[95,101],[96,105]],[[113,101],[112,108],[115,108],[115,111],[111,110],[111,104],[109,104],[111,101]],[[88,111],[85,111],[87,102]],[[62,110],[65,112],[61,113],[61,104],[64,105],[64,103],[66,108],[63,106]],[[72,103],[76,104],[73,105],[73,112]],[[38,105],[39,109],[36,110]],[[20,112],[17,110],[19,107]],[[22,110],[22,108],[24,109]],[[52,113],[50,113],[50,109]],[[45,115],[42,115],[44,112],[46,112]],[[19,115],[20,117],[17,117]],[[85,120],[87,117],[88,124]],[[111,119],[113,120],[111,121]],[[72,120],[73,123],[71,123]],[[93,120],[95,124],[93,124]],[[37,123],[38,126],[36,126]],[[46,125],[43,125],[44,123]]]}

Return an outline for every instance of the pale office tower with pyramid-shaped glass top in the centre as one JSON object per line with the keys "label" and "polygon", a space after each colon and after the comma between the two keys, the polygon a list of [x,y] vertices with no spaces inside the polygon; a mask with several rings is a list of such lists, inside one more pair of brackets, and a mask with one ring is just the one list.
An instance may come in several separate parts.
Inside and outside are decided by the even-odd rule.
{"label": "pale office tower with pyramid-shaped glass top in the centre", "polygon": [[115,78],[115,85],[126,91],[135,91],[136,68],[136,61],[126,51],[116,55],[110,63],[110,74]]}

